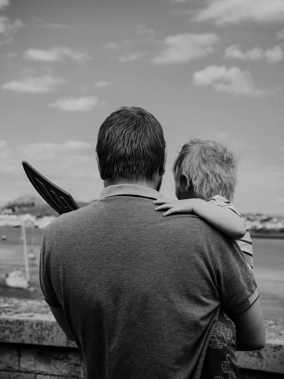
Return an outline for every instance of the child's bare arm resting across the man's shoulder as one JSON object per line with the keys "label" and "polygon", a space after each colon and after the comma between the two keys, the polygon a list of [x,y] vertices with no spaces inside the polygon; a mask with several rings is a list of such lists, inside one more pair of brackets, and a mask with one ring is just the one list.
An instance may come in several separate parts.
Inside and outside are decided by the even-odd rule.
{"label": "child's bare arm resting across the man's shoulder", "polygon": [[155,208],[156,211],[168,209],[163,216],[172,213],[194,213],[233,238],[241,238],[246,234],[246,223],[238,214],[228,212],[228,209],[216,207],[216,205],[199,198],[187,200],[161,198],[154,201],[153,204],[159,205]]}

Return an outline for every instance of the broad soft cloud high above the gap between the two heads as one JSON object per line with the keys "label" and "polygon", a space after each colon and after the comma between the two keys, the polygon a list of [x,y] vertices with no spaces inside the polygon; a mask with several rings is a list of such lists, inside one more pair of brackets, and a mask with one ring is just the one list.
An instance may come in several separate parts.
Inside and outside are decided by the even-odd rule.
{"label": "broad soft cloud high above the gap between the two heads", "polygon": [[189,62],[212,54],[219,37],[214,33],[171,35],[164,40],[164,50],[152,62],[156,65]]}

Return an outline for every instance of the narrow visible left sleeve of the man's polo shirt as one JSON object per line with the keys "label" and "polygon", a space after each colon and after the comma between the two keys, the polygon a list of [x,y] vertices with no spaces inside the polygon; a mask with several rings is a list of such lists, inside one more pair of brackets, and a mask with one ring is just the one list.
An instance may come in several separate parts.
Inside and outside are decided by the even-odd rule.
{"label": "narrow visible left sleeve of the man's polo shirt", "polygon": [[42,248],[40,249],[40,258],[39,258],[39,284],[40,288],[45,297],[45,301],[51,307],[62,307],[59,303],[59,300],[52,288],[51,282],[51,270],[50,270],[50,260],[46,255],[46,245],[45,245],[45,232],[43,235]]}

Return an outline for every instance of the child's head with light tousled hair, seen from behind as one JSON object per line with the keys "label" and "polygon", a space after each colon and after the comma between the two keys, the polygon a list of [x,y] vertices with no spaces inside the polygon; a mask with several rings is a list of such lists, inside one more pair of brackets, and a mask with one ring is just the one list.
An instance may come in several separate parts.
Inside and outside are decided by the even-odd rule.
{"label": "child's head with light tousled hair, seen from behind", "polygon": [[186,176],[196,197],[204,200],[221,195],[232,200],[235,186],[237,159],[226,146],[208,140],[191,139],[182,146],[175,159],[173,173],[176,195],[182,191]]}

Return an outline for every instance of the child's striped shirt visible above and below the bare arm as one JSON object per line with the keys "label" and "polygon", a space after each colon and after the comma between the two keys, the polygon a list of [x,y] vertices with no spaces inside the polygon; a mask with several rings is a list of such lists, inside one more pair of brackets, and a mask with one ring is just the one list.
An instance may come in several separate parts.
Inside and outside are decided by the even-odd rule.
{"label": "child's striped shirt visible above and below the bare arm", "polygon": [[[224,207],[226,209],[230,209],[230,211],[235,212],[238,216],[241,217],[239,212],[233,206],[231,202],[229,202],[225,197],[220,195],[215,195],[207,200],[209,203],[217,205],[218,207]],[[242,238],[235,238],[235,241],[241,248],[241,251],[244,253],[247,263],[253,268],[253,251],[252,251],[252,240],[249,231],[246,231],[246,234]]]}

